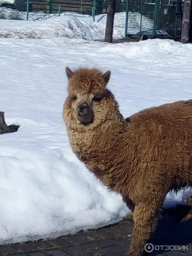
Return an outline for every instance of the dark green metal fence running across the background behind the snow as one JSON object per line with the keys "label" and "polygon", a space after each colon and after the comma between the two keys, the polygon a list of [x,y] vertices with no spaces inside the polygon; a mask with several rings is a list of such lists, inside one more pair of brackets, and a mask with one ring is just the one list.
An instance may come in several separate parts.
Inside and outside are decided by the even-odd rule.
{"label": "dark green metal fence running across the background behind the snow", "polygon": [[[7,0],[5,0],[7,1]],[[12,0],[10,0],[12,1]],[[147,34],[179,38],[183,0],[116,0],[115,27],[125,36]],[[15,0],[18,10],[44,13],[81,13],[106,22],[108,0]],[[89,19],[90,19],[89,17]]]}

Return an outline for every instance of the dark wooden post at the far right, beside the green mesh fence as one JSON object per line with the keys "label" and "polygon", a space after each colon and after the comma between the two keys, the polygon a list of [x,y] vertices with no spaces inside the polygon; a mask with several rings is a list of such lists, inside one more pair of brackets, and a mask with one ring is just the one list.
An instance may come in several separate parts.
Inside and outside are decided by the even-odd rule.
{"label": "dark wooden post at the far right, beside the green mesh fence", "polygon": [[180,42],[187,44],[189,42],[189,30],[190,30],[190,18],[191,18],[191,0],[184,0],[184,7],[182,13],[182,28]]}

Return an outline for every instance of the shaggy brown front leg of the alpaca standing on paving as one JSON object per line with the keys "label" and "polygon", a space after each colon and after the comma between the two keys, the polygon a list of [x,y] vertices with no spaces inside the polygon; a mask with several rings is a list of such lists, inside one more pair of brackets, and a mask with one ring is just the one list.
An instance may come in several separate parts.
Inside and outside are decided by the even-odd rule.
{"label": "shaggy brown front leg of the alpaca standing on paving", "polygon": [[129,256],[141,256],[150,234],[156,229],[159,207],[157,204],[139,204],[134,208],[134,229],[132,231]]}

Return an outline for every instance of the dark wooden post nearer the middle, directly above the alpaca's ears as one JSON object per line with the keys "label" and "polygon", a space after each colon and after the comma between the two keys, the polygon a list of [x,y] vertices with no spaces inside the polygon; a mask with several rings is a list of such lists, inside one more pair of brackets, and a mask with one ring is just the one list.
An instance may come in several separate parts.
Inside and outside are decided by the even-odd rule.
{"label": "dark wooden post nearer the middle, directly above the alpaca's ears", "polygon": [[115,16],[115,0],[108,0],[105,42],[113,42],[113,24]]}

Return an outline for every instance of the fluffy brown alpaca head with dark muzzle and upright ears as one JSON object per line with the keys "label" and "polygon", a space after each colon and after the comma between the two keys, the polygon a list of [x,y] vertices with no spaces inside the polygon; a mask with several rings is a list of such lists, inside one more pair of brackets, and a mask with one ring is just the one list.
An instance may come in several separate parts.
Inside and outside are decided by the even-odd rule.
{"label": "fluffy brown alpaca head with dark muzzle and upright ears", "polygon": [[63,119],[71,129],[94,129],[106,120],[114,120],[118,104],[106,88],[111,72],[97,68],[66,68],[68,97],[63,108]]}

